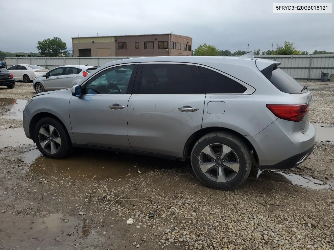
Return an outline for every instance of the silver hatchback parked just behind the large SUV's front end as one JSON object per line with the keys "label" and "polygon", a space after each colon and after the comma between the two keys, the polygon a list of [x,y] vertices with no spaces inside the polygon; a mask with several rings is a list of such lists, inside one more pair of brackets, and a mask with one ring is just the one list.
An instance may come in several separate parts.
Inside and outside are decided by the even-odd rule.
{"label": "silver hatchback parked just behind the large SUV's front end", "polygon": [[97,67],[86,65],[66,65],[56,67],[37,77],[32,83],[36,93],[72,87]]}

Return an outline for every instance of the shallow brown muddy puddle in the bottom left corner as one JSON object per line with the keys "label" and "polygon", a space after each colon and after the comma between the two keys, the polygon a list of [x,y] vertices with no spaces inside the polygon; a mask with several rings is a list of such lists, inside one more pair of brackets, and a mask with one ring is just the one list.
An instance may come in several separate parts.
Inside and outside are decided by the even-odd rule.
{"label": "shallow brown muddy puddle in the bottom left corner", "polygon": [[[104,241],[104,238],[91,229],[89,221],[86,219],[78,220],[62,213],[47,215],[46,212],[42,212],[40,218],[30,220],[30,223],[21,220],[15,226],[21,230],[16,234],[11,233],[10,238],[9,235],[7,237],[4,235],[2,245],[5,249],[14,249],[21,241],[29,242],[29,249],[33,247],[34,249],[36,247],[40,247],[40,249],[44,249],[43,247],[65,249],[65,246],[68,249],[67,247],[70,246],[89,246]],[[24,234],[19,232],[24,232]],[[7,242],[6,239],[8,239]]]}

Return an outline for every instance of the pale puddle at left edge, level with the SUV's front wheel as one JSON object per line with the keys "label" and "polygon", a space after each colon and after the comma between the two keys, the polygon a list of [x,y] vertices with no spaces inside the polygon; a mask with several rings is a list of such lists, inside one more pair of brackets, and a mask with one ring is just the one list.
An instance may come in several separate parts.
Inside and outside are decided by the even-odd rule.
{"label": "pale puddle at left edge, level with the SUV's front wheel", "polygon": [[33,144],[33,141],[25,136],[23,128],[0,130],[0,148],[16,147],[22,144]]}

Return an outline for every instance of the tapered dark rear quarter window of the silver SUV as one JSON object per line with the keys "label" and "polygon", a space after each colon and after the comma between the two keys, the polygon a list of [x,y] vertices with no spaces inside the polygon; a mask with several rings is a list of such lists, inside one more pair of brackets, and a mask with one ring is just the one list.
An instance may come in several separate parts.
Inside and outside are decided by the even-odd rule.
{"label": "tapered dark rear quarter window of the silver SUV", "polygon": [[207,94],[241,94],[247,89],[240,83],[211,69],[199,67],[199,71]]}

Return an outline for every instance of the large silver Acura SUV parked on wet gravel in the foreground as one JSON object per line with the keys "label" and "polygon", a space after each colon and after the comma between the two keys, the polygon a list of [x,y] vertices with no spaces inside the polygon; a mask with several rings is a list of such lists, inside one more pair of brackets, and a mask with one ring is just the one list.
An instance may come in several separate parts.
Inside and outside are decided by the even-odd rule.
{"label": "large silver Acura SUV parked on wet gravel in the foreground", "polygon": [[73,147],[190,158],[228,190],[252,165],[286,169],[313,151],[311,92],[263,58],[142,57],[101,66],[71,89],[28,100],[23,127],[46,157]]}

